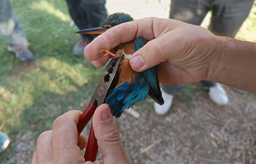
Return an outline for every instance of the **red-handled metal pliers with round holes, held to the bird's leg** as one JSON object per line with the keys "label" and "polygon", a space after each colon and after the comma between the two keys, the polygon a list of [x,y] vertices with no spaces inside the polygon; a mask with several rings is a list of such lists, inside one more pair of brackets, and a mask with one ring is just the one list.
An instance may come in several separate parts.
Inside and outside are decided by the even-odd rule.
{"label": "red-handled metal pliers with round holes, held to the bird's leg", "polygon": [[[124,54],[121,54],[119,58],[112,58],[108,63],[105,71],[103,72],[100,82],[91,98],[91,101],[84,112],[79,117],[77,125],[78,136],[81,134],[87,123],[92,118],[96,108],[106,102],[107,96],[109,96],[111,90],[113,90],[119,80],[119,73],[117,71],[119,62],[124,59]],[[94,135],[93,126],[91,125],[88,142],[84,154],[85,161],[94,162],[97,157],[98,144]]]}

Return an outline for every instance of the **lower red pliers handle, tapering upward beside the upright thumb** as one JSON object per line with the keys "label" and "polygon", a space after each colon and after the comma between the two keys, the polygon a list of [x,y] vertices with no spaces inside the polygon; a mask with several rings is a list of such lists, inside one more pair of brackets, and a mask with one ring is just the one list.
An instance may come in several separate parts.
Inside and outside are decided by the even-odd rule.
{"label": "lower red pliers handle, tapering upward beside the upright thumb", "polygon": [[91,125],[90,134],[88,137],[88,143],[84,153],[85,161],[94,162],[97,158],[98,149],[99,147],[97,144],[97,139],[95,138],[93,126]]}

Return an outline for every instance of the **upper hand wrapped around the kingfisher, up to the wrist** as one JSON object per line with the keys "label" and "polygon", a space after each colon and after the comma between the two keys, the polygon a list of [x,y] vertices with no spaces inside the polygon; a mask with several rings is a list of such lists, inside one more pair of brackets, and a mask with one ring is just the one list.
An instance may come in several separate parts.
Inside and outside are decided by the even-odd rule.
{"label": "upper hand wrapped around the kingfisher, up to the wrist", "polygon": [[217,44],[220,37],[209,30],[173,19],[150,17],[110,28],[85,47],[84,55],[95,67],[102,67],[109,58],[99,56],[100,50],[111,50],[139,36],[148,43],[132,54],[130,65],[137,72],[158,65],[162,84],[206,80],[211,61],[222,53]]}

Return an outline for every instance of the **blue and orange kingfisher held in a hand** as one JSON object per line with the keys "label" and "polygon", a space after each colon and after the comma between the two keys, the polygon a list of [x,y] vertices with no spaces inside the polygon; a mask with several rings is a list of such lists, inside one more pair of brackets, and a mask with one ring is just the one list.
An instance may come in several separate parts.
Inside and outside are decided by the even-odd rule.
{"label": "blue and orange kingfisher held in a hand", "polygon": [[[133,20],[134,19],[129,14],[114,13],[107,17],[103,22],[102,27],[84,29],[76,33],[102,34],[111,27]],[[110,55],[114,58],[118,58],[121,53],[131,55],[146,44],[147,41],[139,36],[130,42],[116,46],[114,48],[116,50],[115,54],[108,50],[101,50],[99,55],[103,57]],[[120,74],[119,82],[106,99],[106,103],[109,104],[111,113],[114,117],[120,117],[125,109],[133,106],[137,102],[146,100],[148,95],[159,105],[164,104],[158,81],[157,65],[143,72],[136,72],[130,65],[130,58],[125,56],[124,60],[120,62],[118,71]]]}

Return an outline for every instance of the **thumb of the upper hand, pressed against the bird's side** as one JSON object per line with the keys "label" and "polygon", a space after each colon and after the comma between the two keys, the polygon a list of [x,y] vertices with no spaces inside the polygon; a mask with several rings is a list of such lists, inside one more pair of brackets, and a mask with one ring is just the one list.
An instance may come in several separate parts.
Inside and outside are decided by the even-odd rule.
{"label": "thumb of the upper hand, pressed against the bird's side", "polygon": [[171,39],[166,35],[149,41],[132,54],[130,65],[134,71],[141,72],[170,58]]}

